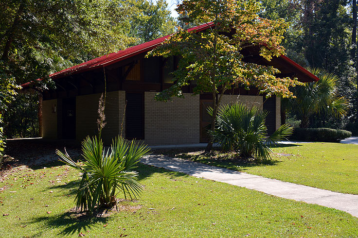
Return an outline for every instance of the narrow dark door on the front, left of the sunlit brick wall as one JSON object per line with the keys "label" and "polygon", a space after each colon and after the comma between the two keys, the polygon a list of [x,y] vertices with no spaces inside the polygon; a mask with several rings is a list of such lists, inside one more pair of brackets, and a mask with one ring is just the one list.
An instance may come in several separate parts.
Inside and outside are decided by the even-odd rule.
{"label": "narrow dark door on the front, left of the sunlit brick wall", "polygon": [[144,97],[143,93],[126,93],[125,137],[144,139]]}

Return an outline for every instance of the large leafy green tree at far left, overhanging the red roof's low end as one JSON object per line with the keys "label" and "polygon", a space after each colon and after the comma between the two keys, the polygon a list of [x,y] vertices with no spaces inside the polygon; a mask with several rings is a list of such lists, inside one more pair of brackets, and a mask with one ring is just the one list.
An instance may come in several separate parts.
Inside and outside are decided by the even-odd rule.
{"label": "large leafy green tree at far left, overhanging the red roof's low end", "polygon": [[32,85],[41,109],[41,91],[54,86],[49,74],[134,42],[125,32],[129,13],[135,9],[122,0],[1,0],[0,81],[42,78]]}

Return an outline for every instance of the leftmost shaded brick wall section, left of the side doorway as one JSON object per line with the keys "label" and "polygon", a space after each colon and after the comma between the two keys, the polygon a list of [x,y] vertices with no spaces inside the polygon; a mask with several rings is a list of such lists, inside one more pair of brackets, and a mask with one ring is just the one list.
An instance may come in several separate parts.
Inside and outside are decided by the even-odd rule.
{"label": "leftmost shaded brick wall section, left of the side doorway", "polygon": [[42,102],[42,137],[47,139],[57,138],[57,110],[53,112],[53,106],[57,99]]}

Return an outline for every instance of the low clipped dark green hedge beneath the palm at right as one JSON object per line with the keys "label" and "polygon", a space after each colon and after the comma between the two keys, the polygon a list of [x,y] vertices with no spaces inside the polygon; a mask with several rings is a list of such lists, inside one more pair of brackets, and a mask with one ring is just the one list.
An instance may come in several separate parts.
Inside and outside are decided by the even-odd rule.
{"label": "low clipped dark green hedge beneath the palm at right", "polygon": [[290,139],[304,141],[339,142],[342,139],[352,136],[352,133],[345,130],[331,128],[295,128]]}

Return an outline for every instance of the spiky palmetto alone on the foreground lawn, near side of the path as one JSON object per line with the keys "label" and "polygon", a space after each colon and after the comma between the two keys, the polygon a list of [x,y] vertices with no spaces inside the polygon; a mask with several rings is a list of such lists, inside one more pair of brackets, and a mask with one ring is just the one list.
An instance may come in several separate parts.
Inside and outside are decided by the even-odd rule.
{"label": "spiky palmetto alone on the foreground lawn, near side of the path", "polygon": [[132,198],[141,193],[137,172],[133,171],[140,158],[149,153],[147,146],[134,140],[127,141],[121,136],[112,141],[109,149],[103,147],[101,137],[89,136],[82,142],[80,163],[74,162],[67,152],[56,150],[61,160],[82,173],[76,190],[77,209],[93,212],[95,206],[111,207],[116,196],[123,192]]}

